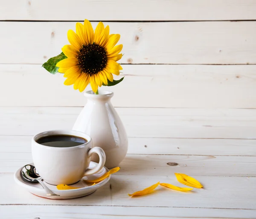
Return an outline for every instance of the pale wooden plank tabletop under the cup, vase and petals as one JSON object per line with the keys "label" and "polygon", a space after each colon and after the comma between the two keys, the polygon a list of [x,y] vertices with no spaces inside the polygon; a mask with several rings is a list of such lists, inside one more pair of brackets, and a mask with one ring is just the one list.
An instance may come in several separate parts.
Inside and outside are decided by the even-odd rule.
{"label": "pale wooden plank tabletop under the cup, vase and petals", "polygon": [[[256,109],[117,108],[129,150],[108,184],[73,200],[41,199],[16,185],[13,173],[32,161],[32,135],[69,129],[80,110],[0,108],[1,219],[256,218]],[[158,181],[182,186],[174,173],[204,189],[128,196]]]}

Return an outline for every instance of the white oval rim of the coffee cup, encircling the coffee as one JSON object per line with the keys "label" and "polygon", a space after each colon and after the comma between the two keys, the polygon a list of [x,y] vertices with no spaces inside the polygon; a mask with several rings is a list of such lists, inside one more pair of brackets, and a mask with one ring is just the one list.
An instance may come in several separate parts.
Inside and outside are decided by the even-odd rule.
{"label": "white oval rim of the coffee cup, encircling the coffee", "polygon": [[[85,142],[84,144],[73,146],[73,147],[52,147],[52,146],[39,144],[37,142],[37,140],[39,138],[49,136],[49,135],[74,135],[74,136],[79,137],[79,138],[84,138],[85,140],[87,140],[87,142]],[[69,150],[70,148],[83,147],[83,146],[89,144],[90,141],[92,141],[92,138],[89,135],[87,135],[83,132],[76,131],[76,130],[49,130],[49,131],[44,131],[44,132],[41,132],[41,133],[38,133],[38,134],[34,135],[32,137],[32,141],[33,141],[33,143],[35,143],[36,145],[40,145],[41,147],[48,147],[48,148],[52,148],[52,149],[57,149],[58,148],[60,150]]]}

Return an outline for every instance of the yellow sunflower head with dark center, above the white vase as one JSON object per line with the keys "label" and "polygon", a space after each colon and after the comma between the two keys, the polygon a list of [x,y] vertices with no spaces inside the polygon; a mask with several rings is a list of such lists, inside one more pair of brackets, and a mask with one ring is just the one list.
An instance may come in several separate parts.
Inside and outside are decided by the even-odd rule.
{"label": "yellow sunflower head with dark center, above the white vase", "polygon": [[84,25],[76,23],[76,33],[67,32],[67,38],[71,45],[61,49],[67,58],[56,64],[58,72],[67,78],[65,85],[73,84],[82,92],[90,83],[93,92],[97,92],[98,86],[113,81],[113,74],[119,75],[122,67],[116,61],[122,58],[122,44],[116,46],[120,35],[109,35],[109,26],[99,22],[93,32],[90,21],[84,20]]}

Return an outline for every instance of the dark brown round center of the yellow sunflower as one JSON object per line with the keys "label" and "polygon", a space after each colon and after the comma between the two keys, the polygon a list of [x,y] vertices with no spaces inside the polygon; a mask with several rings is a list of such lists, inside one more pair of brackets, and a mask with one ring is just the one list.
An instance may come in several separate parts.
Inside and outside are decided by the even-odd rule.
{"label": "dark brown round center of the yellow sunflower", "polygon": [[98,44],[88,44],[79,50],[78,65],[87,74],[93,75],[102,71],[107,65],[107,52]]}

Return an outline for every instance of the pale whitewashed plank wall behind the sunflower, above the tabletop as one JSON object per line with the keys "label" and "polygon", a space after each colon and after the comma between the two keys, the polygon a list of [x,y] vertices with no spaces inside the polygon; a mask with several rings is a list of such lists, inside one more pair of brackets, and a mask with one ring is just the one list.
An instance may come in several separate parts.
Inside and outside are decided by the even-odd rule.
{"label": "pale whitewashed plank wall behind the sunflower, above the tabletop", "polygon": [[252,0],[2,0],[0,106],[85,104],[41,64],[87,18],[121,34],[125,80],[103,88],[115,107],[256,108],[255,11]]}

